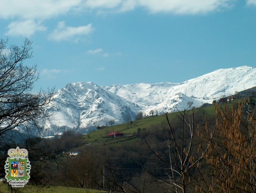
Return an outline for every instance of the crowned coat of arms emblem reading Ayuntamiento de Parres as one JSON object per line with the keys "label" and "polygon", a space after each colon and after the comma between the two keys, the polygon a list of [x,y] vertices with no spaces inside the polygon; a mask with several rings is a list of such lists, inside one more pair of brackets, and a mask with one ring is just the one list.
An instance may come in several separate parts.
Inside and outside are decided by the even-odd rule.
{"label": "crowned coat of arms emblem reading Ayuntamiento de Parres", "polygon": [[30,162],[27,149],[9,149],[5,171],[7,182],[12,187],[24,187],[30,178]]}

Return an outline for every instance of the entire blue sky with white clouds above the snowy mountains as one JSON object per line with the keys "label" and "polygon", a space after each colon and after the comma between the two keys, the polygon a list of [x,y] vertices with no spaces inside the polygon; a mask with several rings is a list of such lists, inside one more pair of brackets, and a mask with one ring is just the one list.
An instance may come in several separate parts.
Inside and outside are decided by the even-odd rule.
{"label": "entire blue sky with white clouds above the snowy mountains", "polygon": [[256,0],[0,0],[0,33],[33,41],[35,90],[256,67]]}

